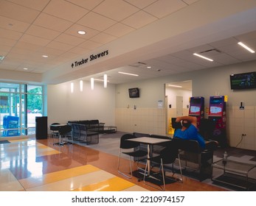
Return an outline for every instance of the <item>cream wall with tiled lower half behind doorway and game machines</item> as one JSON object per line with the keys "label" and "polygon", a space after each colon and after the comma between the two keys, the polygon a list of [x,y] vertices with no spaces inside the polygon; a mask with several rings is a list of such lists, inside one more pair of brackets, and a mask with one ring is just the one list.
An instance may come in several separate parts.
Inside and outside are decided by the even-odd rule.
{"label": "cream wall with tiled lower half behind doorway and game machines", "polygon": [[[207,68],[183,74],[146,79],[141,82],[130,82],[117,85],[116,98],[116,124],[125,132],[159,132],[166,134],[166,112],[159,108],[158,101],[165,101],[165,84],[168,82],[193,81],[193,96],[204,96],[205,108],[209,105],[210,96],[227,96],[226,102],[226,133],[229,146],[237,146],[243,149],[256,149],[256,90],[231,90],[229,75],[249,71],[256,71],[256,61],[224,65],[218,68]],[[139,87],[142,94],[139,99],[129,99],[128,88]],[[244,110],[239,109],[240,102],[244,102]],[[136,127],[137,122],[143,124],[145,117],[129,113],[128,105],[136,104],[140,110],[154,113],[147,117],[147,126]],[[205,111],[207,113],[207,111]],[[125,116],[125,121],[120,121]],[[134,124],[135,123],[135,124]],[[155,129],[152,129],[155,127]],[[164,129],[162,129],[164,128]],[[241,139],[241,134],[246,137]]]}

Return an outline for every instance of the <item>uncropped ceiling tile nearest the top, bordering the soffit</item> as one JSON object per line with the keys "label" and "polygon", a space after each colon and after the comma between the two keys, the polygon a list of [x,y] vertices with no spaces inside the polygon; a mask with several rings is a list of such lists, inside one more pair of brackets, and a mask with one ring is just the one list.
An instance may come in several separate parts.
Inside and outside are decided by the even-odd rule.
{"label": "uncropped ceiling tile nearest the top, bordering the soffit", "polygon": [[127,24],[128,26],[131,26],[135,29],[139,29],[140,27],[150,24],[151,22],[156,20],[158,20],[158,18],[154,17],[153,15],[145,13],[144,11],[139,11],[134,15],[125,18],[122,23]]}

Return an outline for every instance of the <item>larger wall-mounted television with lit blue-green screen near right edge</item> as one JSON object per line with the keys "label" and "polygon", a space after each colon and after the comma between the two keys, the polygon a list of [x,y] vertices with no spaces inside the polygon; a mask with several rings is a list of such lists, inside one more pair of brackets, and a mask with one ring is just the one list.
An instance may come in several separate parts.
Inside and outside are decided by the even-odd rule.
{"label": "larger wall-mounted television with lit blue-green screen near right edge", "polygon": [[256,71],[231,74],[230,87],[232,90],[256,88]]}

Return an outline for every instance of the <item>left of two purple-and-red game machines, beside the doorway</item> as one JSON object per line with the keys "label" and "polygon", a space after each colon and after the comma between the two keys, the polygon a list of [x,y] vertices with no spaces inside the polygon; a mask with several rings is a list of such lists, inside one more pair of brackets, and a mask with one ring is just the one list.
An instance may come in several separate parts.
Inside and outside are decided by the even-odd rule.
{"label": "left of two purple-and-red game machines, beside the doorway", "polygon": [[202,96],[190,97],[190,110],[188,114],[189,116],[196,116],[197,127],[199,128],[201,118],[204,118],[204,97]]}

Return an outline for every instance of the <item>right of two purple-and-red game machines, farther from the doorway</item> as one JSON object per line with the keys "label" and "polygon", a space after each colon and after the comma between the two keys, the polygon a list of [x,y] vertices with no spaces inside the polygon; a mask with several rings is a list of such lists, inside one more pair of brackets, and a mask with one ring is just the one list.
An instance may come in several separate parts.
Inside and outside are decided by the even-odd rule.
{"label": "right of two purple-and-red game machines, farther from the doorway", "polygon": [[220,146],[226,146],[226,97],[210,96],[208,118],[214,122],[212,134]]}

